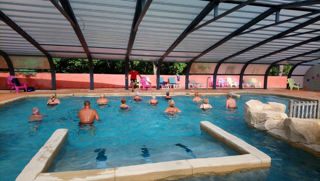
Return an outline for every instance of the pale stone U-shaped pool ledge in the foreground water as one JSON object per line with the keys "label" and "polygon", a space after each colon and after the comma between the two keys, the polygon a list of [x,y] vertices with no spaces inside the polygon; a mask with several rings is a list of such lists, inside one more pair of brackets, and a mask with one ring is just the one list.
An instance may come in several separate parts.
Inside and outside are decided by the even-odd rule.
{"label": "pale stone U-shaped pool ledge in the foreground water", "polygon": [[270,167],[271,158],[252,145],[227,133],[208,121],[202,121],[200,127],[218,141],[238,151],[241,155],[176,160],[108,169],[44,173],[47,168],[49,168],[57,151],[60,150],[68,136],[67,129],[58,129],[22,170],[16,181],[58,181],[75,179],[84,181],[148,181],[165,178],[178,179],[205,174],[229,174]]}

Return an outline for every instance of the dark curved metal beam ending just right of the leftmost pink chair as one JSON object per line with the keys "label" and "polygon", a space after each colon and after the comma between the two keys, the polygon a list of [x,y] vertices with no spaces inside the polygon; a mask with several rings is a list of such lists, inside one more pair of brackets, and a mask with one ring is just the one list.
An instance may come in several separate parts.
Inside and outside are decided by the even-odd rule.
{"label": "dark curved metal beam ending just right of the leftmost pink chair", "polygon": [[56,73],[54,69],[54,64],[51,55],[46,52],[34,39],[32,39],[24,30],[22,30],[16,23],[12,22],[10,18],[8,18],[2,11],[0,11],[0,20],[7,24],[10,28],[15,30],[19,35],[21,35],[24,39],[26,39],[29,43],[31,43],[34,47],[36,47],[39,51],[41,51],[48,59],[50,65],[51,72],[51,88],[52,90],[56,90]]}

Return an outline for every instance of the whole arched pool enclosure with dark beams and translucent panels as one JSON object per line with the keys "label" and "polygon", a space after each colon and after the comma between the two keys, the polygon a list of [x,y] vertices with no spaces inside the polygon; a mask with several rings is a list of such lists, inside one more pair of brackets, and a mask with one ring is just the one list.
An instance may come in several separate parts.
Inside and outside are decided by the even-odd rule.
{"label": "whole arched pool enclosure with dark beams and translucent panels", "polygon": [[[274,65],[301,78],[320,63],[318,0],[0,0],[0,70],[48,69],[52,58],[189,63],[195,75],[233,78],[237,89],[267,89]],[[205,82],[202,82],[205,83]],[[125,83],[128,89],[128,82]],[[186,86],[189,89],[189,86]]]}

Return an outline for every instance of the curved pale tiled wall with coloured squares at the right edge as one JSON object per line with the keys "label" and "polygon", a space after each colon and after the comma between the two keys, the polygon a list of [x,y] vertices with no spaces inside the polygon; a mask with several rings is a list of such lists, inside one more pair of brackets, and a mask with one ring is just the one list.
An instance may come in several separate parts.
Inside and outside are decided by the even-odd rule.
{"label": "curved pale tiled wall with coloured squares at the right edge", "polygon": [[305,90],[320,91],[320,64],[313,65],[308,69],[303,78]]}

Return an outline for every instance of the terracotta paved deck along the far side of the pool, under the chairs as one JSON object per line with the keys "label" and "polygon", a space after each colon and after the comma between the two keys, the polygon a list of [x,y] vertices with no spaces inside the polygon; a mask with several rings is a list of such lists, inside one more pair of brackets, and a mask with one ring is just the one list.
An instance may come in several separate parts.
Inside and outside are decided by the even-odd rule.
{"label": "terracotta paved deck along the far side of the pool, under the chairs", "polygon": [[[14,90],[10,93],[10,90],[0,90],[0,102],[9,100],[12,98],[20,97],[20,96],[26,96],[26,95],[51,95],[52,92],[55,92],[58,94],[71,94],[71,93],[128,93],[128,95],[135,95],[135,92],[131,92],[131,88],[129,90],[125,90],[124,88],[103,88],[103,89],[57,89],[57,90],[36,90],[34,92],[23,92],[23,90],[20,90],[17,94]],[[194,93],[199,92],[206,93],[206,89],[189,89],[185,90],[182,89],[160,89],[156,90],[155,88],[152,88],[152,90],[145,90],[142,91],[139,88],[135,89],[135,91],[139,91],[140,95],[151,95],[152,93],[159,95],[163,94],[165,95],[165,92],[169,91],[170,95],[175,94],[184,94],[186,92]],[[318,91],[309,91],[309,90],[287,90],[284,87],[269,87],[268,89],[208,89],[208,93],[228,93],[232,91],[258,91],[258,92],[268,92],[268,93],[280,93],[285,95],[291,95],[291,96],[297,96],[297,97],[306,97],[306,98],[312,98],[312,99],[320,99],[320,92]]]}

